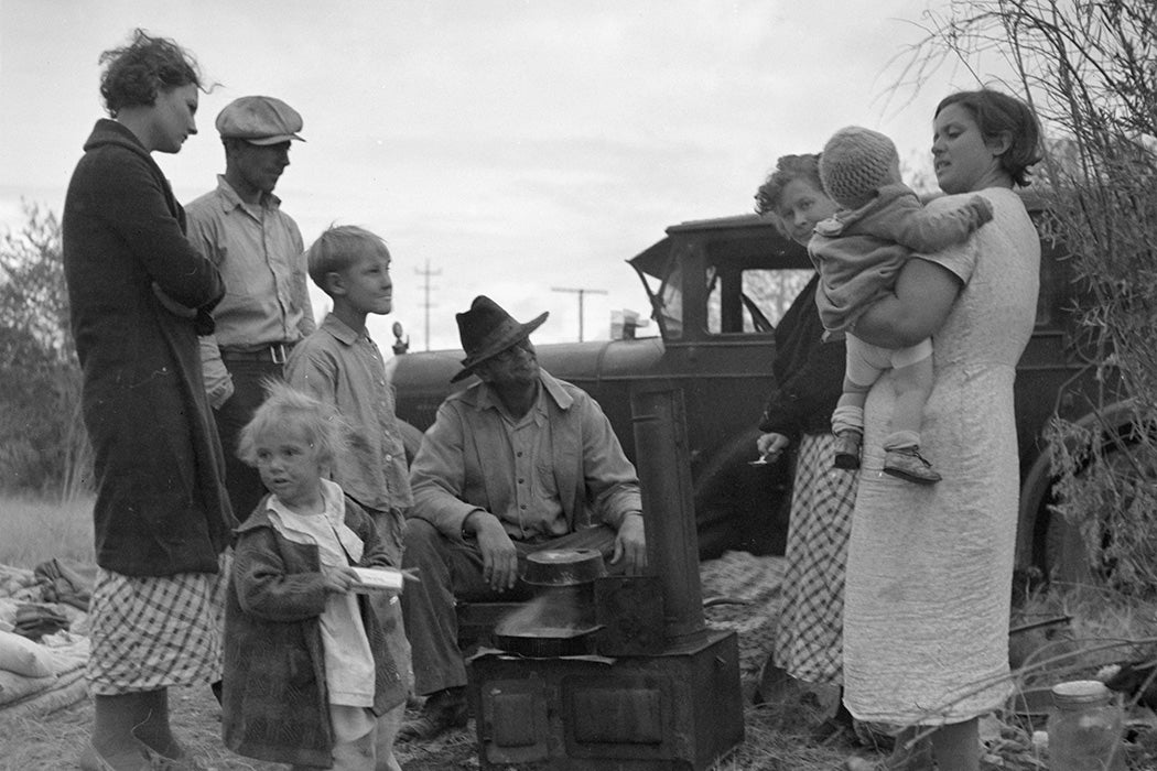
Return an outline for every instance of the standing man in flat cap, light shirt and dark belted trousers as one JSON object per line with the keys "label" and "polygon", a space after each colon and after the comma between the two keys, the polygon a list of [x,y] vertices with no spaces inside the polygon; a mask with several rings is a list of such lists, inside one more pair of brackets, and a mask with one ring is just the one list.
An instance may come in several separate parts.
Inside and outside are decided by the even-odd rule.
{"label": "standing man in flat cap, light shirt and dark belted trousers", "polygon": [[226,284],[213,311],[216,329],[201,338],[201,361],[238,519],[265,488],[237,458],[237,435],[265,398],[261,380],[281,377],[289,349],[315,328],[301,231],[273,194],[289,165],[289,143],[304,141],[301,127],[301,116],[281,99],[243,96],[227,104],[216,119],[224,173],[216,190],[185,207],[190,240]]}

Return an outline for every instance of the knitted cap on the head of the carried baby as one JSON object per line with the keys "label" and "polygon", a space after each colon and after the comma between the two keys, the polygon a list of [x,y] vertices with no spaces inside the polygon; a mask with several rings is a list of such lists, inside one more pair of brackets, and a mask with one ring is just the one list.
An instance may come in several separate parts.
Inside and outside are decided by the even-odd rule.
{"label": "knitted cap on the head of the carried baby", "polygon": [[835,132],[824,146],[819,180],[833,201],[846,209],[858,209],[890,180],[898,157],[896,144],[884,134],[848,126]]}

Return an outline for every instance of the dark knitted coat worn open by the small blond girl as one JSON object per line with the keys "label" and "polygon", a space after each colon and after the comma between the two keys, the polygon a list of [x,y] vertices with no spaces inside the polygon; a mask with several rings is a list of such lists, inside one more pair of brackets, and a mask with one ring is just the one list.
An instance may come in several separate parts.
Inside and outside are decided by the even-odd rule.
{"label": "dark knitted coat worn open by the small blond girl", "polygon": [[[346,525],[364,543],[361,566],[389,566],[369,514],[346,497]],[[274,763],[330,768],[333,728],[325,684],[320,615],[325,584],[316,546],[288,541],[265,501],[237,528],[226,605],[222,734],[226,747]],[[369,599],[358,598],[374,652],[374,713],[406,698],[399,662]]]}

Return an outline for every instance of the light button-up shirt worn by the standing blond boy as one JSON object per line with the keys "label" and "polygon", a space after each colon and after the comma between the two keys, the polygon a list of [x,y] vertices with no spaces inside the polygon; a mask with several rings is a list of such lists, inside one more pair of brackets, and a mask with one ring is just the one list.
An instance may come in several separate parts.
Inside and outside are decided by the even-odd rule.
{"label": "light button-up shirt worn by the standing blond boy", "polygon": [[[286,365],[299,391],[333,405],[347,424],[347,446],[334,459],[332,476],[346,495],[375,511],[397,517],[413,505],[406,451],[395,413],[393,387],[385,378],[382,351],[369,333],[354,332],[333,313],[299,343]],[[399,521],[400,525],[400,521]],[[401,564],[400,527],[381,528],[395,565]]]}

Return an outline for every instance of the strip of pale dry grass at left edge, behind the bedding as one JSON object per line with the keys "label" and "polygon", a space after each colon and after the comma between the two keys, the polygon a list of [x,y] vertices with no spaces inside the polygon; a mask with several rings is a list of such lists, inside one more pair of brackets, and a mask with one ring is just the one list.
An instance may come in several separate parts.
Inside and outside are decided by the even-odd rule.
{"label": "strip of pale dry grass at left edge, behind the bedding", "polygon": [[0,495],[0,564],[35,568],[52,557],[91,563],[93,499],[50,503]]}

